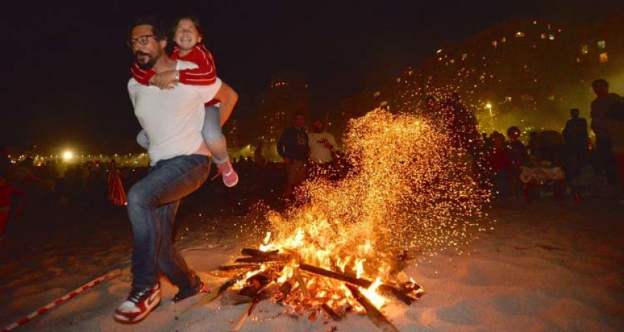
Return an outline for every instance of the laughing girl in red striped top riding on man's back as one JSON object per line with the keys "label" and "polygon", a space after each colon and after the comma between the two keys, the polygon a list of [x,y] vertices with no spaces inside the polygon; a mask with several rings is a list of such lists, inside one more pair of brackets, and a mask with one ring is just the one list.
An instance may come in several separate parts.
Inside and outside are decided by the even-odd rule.
{"label": "laughing girl in red striped top riding on man's back", "polygon": [[[173,89],[175,82],[190,85],[210,85],[216,81],[216,67],[214,59],[209,50],[202,44],[203,33],[199,21],[191,17],[178,19],[173,27],[173,42],[176,46],[173,49],[172,59],[180,59],[193,62],[198,65],[195,69],[182,71],[168,71],[156,74],[153,70],[139,68],[137,63],[132,66],[130,72],[137,82],[146,85],[155,85],[161,89]],[[229,163],[225,136],[221,132],[221,127],[229,118],[234,109],[236,98],[219,103],[219,100],[211,100],[205,104],[206,115],[202,136],[212,153],[212,159],[216,163],[218,170],[223,176],[223,183],[227,187],[234,187],[239,182],[239,176]],[[137,136],[137,142],[141,147],[149,147],[149,139],[145,131],[141,131]]]}

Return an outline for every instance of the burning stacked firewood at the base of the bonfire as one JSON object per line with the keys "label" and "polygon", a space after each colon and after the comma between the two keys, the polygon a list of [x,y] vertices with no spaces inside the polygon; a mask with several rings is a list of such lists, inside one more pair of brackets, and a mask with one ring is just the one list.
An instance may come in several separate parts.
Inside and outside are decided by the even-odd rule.
{"label": "burning stacked firewood at the base of the bonfire", "polygon": [[[252,248],[245,248],[241,251],[245,257],[236,259],[234,264],[219,266],[220,273],[232,275],[225,283],[211,293],[202,297],[200,301],[189,307],[187,311],[208,304],[212,300],[226,293],[229,288],[236,284],[244,283],[245,286],[237,292],[229,292],[225,295],[225,301],[230,304],[248,304],[247,310],[236,320],[231,331],[240,331],[247,317],[252,315],[252,311],[263,299],[272,299],[276,303],[283,305],[297,306],[300,309],[310,311],[310,318],[315,320],[319,311],[324,312],[328,319],[340,320],[344,315],[354,311],[348,304],[336,310],[328,302],[319,304],[318,298],[313,299],[308,289],[308,280],[315,277],[333,279],[343,283],[352,293],[354,299],[362,306],[369,319],[382,331],[399,331],[388,318],[386,318],[376,306],[360,291],[359,288],[369,288],[373,281],[348,273],[340,272],[338,268],[328,270],[298,261],[295,252],[279,252],[278,250],[261,251]],[[295,264],[293,264],[295,262]],[[286,281],[279,282],[282,273],[288,266],[293,268],[291,277]],[[315,283],[320,284],[320,283]],[[293,296],[293,291],[297,289],[300,294]],[[384,297],[396,299],[406,305],[415,302],[424,294],[424,290],[414,282],[403,282],[401,284],[382,282],[377,288]],[[318,290],[316,290],[318,291]],[[327,290],[328,293],[331,290]],[[322,302],[322,301],[320,301]],[[301,311],[301,310],[300,310]]]}

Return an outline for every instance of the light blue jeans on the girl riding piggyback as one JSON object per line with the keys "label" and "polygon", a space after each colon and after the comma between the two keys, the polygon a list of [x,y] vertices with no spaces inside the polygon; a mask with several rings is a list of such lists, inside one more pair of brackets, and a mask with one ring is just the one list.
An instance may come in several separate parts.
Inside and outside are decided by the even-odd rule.
{"label": "light blue jeans on the girl riding piggyback", "polygon": [[[221,165],[229,160],[225,136],[223,136],[223,132],[221,131],[219,108],[214,105],[206,107],[202,136],[204,137],[206,145],[208,145],[214,163]],[[150,140],[144,130],[141,130],[139,135],[137,135],[137,142],[144,149],[150,147]]]}

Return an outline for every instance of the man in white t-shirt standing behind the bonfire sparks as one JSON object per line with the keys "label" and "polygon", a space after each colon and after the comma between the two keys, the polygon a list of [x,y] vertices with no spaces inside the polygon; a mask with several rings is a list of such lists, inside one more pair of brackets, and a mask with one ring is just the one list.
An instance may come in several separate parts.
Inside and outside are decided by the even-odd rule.
{"label": "man in white t-shirt standing behind the bonfire sparks", "polygon": [[320,118],[312,121],[312,132],[308,134],[308,144],[310,147],[311,167],[314,168],[313,173],[317,176],[330,176],[331,152],[338,145],[331,133],[325,131],[325,124]]}

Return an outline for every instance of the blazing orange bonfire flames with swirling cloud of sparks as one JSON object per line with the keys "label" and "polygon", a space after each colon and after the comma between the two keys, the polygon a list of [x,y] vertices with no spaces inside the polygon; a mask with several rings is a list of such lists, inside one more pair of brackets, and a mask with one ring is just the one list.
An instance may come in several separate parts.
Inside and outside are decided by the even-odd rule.
{"label": "blazing orange bonfire flames with swirling cloud of sparks", "polygon": [[[449,138],[415,116],[378,109],[349,127],[351,172],[337,182],[309,181],[297,207],[270,212],[272,232],[260,250],[245,249],[250,257],[237,260],[261,267],[239,278],[239,287],[312,318],[320,308],[334,319],[366,312],[381,327],[385,317],[377,311],[376,322],[374,307],[391,298],[409,304],[423,292],[400,272],[406,257],[397,252],[454,247],[460,254],[478,231],[487,194],[471,178],[467,154],[449,148]],[[268,281],[245,282],[252,275]]]}

